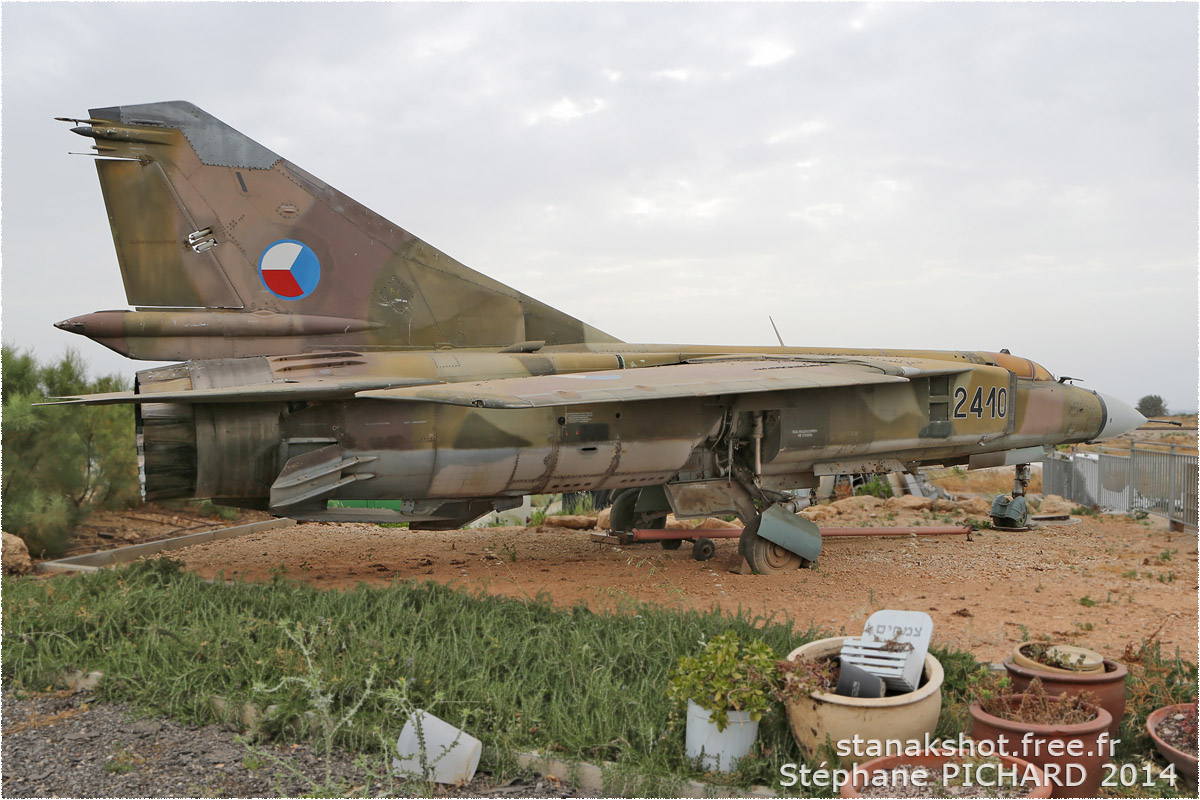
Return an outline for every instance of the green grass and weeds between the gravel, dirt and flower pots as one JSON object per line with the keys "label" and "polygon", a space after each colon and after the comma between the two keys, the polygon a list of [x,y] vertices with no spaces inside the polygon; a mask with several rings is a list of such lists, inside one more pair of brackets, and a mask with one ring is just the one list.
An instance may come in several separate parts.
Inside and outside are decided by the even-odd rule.
{"label": "green grass and weeds between the gravel, dirt and flower pots", "polygon": [[[626,614],[595,614],[432,582],[330,591],[281,575],[265,584],[208,584],[168,559],[5,579],[2,602],[10,691],[53,687],[68,669],[101,670],[104,700],[196,723],[226,721],[251,703],[266,739],[314,738],[379,762],[390,762],[402,694],[404,706],[481,739],[481,765],[500,776],[515,774],[515,751],[542,750],[568,762],[616,762],[606,777],[612,792],[638,795],[673,794],[688,777],[778,788],[780,765],[802,760],[782,710],[763,718],[738,772],[704,776],[684,757],[683,715],[667,699],[667,675],[682,655],[725,631],[762,640],[779,657],[824,636],[744,613],[631,603]],[[966,651],[934,654],[946,672],[936,734],[955,736],[968,724],[971,676],[984,667]],[[1136,739],[1129,720],[1144,723],[1152,703],[1188,699],[1195,667],[1157,648],[1134,655],[1140,674],[1152,678],[1138,697],[1130,680],[1123,733]],[[1141,757],[1150,752],[1145,740],[1135,747]]]}

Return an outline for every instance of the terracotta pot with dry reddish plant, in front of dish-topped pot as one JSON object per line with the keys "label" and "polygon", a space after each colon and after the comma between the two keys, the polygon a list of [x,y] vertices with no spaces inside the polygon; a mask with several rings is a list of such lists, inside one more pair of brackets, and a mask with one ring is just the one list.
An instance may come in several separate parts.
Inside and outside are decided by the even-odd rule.
{"label": "terracotta pot with dry reddish plant, in front of dish-topped pot", "polygon": [[1008,753],[1043,768],[1054,784],[1052,798],[1094,798],[1099,793],[1112,716],[1092,696],[1048,694],[1037,678],[1020,694],[989,688],[973,690],[979,699],[970,706],[972,739],[994,741],[997,747],[1003,744]]}

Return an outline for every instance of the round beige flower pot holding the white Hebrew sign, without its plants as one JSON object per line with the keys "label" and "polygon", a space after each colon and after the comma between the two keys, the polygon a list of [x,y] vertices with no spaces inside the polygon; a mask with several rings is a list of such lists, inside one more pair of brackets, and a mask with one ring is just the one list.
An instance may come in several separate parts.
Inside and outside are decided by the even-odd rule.
{"label": "round beige flower pot holding the white Hebrew sign, without its plants", "polygon": [[[841,650],[844,636],[809,642],[792,650],[787,658],[827,658]],[[842,697],[832,692],[814,692],[811,696],[786,704],[787,723],[792,736],[805,757],[818,754],[832,760],[836,751],[821,752],[826,741],[836,746],[856,735],[860,740],[874,741],[883,752],[887,741],[917,741],[926,746],[926,735],[932,736],[937,717],[942,712],[942,664],[931,655],[925,656],[924,682],[914,692],[889,697]],[[865,750],[866,745],[863,745]],[[871,756],[841,757],[842,766],[864,762]]]}

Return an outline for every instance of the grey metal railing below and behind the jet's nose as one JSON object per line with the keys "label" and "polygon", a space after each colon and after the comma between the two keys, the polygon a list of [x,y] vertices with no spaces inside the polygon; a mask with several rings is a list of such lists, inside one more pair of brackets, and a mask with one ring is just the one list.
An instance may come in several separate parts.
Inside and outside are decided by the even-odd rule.
{"label": "grey metal railing below and behind the jet's nose", "polygon": [[1042,491],[1082,506],[1166,517],[1196,527],[1198,456],[1175,445],[1129,450],[1050,453],[1042,464]]}

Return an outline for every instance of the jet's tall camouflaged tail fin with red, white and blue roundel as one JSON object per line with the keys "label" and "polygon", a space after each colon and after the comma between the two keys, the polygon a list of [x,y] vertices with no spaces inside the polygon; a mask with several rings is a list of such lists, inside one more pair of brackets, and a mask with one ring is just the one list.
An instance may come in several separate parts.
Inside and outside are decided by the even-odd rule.
{"label": "jet's tall camouflaged tail fin with red, white and blue roundel", "polygon": [[138,311],[65,330],[155,360],[618,341],[463,266],[191,103],[89,113],[73,131],[96,140]]}

